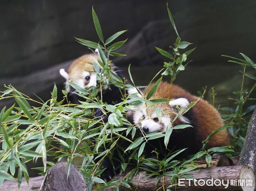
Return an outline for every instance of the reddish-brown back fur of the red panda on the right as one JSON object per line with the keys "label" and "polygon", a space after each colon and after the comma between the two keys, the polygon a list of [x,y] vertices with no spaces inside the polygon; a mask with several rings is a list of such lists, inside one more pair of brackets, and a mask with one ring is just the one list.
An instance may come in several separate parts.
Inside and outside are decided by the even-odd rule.
{"label": "reddish-brown back fur of the red panda on the right", "polygon": [[[153,84],[151,85],[153,86]],[[154,93],[154,95],[151,97],[151,99],[173,99],[177,97],[183,97],[189,100],[189,102],[197,101],[199,97],[195,97],[192,94],[190,94],[188,91],[184,90],[183,88],[180,88],[179,86],[172,85],[166,82],[161,82],[157,91]],[[170,111],[173,111],[169,106],[169,103],[160,103],[156,104],[156,107],[160,108],[166,108],[165,110],[162,110],[163,113],[167,113]],[[149,107],[148,109],[154,110],[153,107]],[[221,119],[220,114],[218,111],[210,105],[206,100],[199,99],[198,102],[193,106],[193,114],[196,117],[196,139],[198,142],[201,142],[202,140],[205,140],[209,134],[211,134],[216,129],[220,128],[224,125],[223,120]],[[175,113],[172,113],[169,115],[172,117],[172,119],[176,116]],[[178,121],[178,123],[181,123]],[[174,124],[177,125],[177,124]],[[229,134],[227,130],[222,130],[215,134],[207,144],[207,147],[215,147],[215,146],[224,146],[229,145]]]}

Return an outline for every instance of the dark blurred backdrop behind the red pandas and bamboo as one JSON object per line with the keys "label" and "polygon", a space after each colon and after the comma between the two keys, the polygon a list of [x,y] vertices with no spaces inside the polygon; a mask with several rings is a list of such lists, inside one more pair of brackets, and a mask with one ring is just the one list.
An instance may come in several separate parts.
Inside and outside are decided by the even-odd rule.
{"label": "dark blurred backdrop behind the red pandas and bamboo", "polygon": [[[227,63],[221,54],[239,57],[243,52],[256,60],[255,0],[170,0],[177,30],[183,41],[197,47],[189,55],[192,63],[176,83],[192,93],[215,86],[217,100],[238,90],[239,66]],[[162,0],[1,0],[0,85],[12,83],[29,96],[50,97],[54,82],[61,96],[64,78],[58,70],[90,51],[74,37],[98,42],[91,9],[98,14],[105,39],[128,29],[119,37],[127,43],[113,58],[127,76],[131,71],[137,85],[146,85],[159,71],[164,57],[154,46],[170,50],[176,35]],[[246,81],[246,86],[250,86]],[[211,100],[210,91],[207,91]],[[1,100],[0,107],[11,101]]]}

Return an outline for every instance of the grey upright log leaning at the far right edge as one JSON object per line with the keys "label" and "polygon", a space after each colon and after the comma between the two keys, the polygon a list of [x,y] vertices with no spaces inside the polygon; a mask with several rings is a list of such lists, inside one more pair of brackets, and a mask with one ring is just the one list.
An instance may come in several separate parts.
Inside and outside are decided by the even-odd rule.
{"label": "grey upright log leaning at the far right edge", "polygon": [[248,165],[256,176],[256,107],[250,119],[239,165]]}

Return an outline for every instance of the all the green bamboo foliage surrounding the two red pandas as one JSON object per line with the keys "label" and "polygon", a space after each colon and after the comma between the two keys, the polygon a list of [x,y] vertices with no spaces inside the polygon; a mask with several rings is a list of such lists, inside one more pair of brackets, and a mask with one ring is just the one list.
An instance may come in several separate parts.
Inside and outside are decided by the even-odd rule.
{"label": "all the green bamboo foliage surrounding the two red pandas", "polygon": [[[163,64],[164,68],[157,72],[145,88],[145,92],[147,92],[145,96],[135,86],[130,66],[128,67],[128,73],[132,85],[126,84],[126,79],[120,79],[120,77],[113,73],[111,68],[113,67],[111,66],[111,56],[124,56],[124,54],[113,51],[116,51],[126,42],[126,40],[114,41],[127,30],[116,32],[107,40],[104,40],[99,18],[94,9],[92,9],[93,23],[100,42],[96,43],[81,38],[76,38],[76,40],[88,48],[99,49],[99,65],[93,63],[93,66],[97,74],[97,80],[100,83],[100,95],[95,87],[81,88],[75,83],[69,82],[70,86],[81,92],[80,94],[76,92],[76,94],[83,97],[86,101],[81,102],[79,105],[63,104],[64,100],[67,99],[67,92],[63,91],[64,98],[57,97],[56,86],[52,90],[51,99],[46,102],[34,100],[12,86],[5,86],[6,90],[0,92],[0,100],[14,98],[16,103],[8,109],[3,108],[0,112],[0,185],[3,183],[3,180],[17,180],[18,187],[20,187],[22,176],[28,182],[29,174],[26,163],[37,161],[40,158],[44,166],[35,169],[41,171],[42,175],[55,162],[66,160],[69,162],[69,166],[71,166],[74,160],[82,160],[79,168],[87,179],[89,190],[91,190],[93,182],[98,184],[98,189],[116,186],[114,190],[118,191],[119,185],[131,188],[130,178],[139,170],[147,170],[149,177],[157,176],[157,182],[161,177],[172,177],[169,187],[172,188],[175,186],[177,178],[190,177],[189,174],[196,170],[194,162],[198,158],[206,157],[206,161],[209,164],[213,154],[225,153],[230,157],[233,152],[230,146],[205,149],[210,137],[221,129],[229,128],[233,136],[232,146],[237,151],[241,149],[242,139],[245,136],[247,126],[247,120],[244,117],[251,111],[248,108],[243,109],[243,106],[247,100],[250,100],[250,94],[256,86],[254,85],[253,88],[246,91],[243,88],[243,82],[239,91],[240,98],[235,99],[236,109],[232,110],[232,108],[229,108],[230,114],[224,116],[227,122],[226,126],[212,132],[203,142],[204,145],[201,151],[182,161],[174,160],[174,158],[185,151],[186,148],[179,151],[170,151],[163,160],[159,158],[145,158],[144,148],[148,140],[164,137],[164,144],[167,146],[173,131],[182,128],[192,128],[191,125],[168,126],[166,133],[157,132],[143,134],[143,136],[140,134],[138,136],[136,133],[137,124],[131,124],[126,119],[127,111],[140,104],[154,107],[157,117],[160,119],[163,112],[155,104],[166,103],[170,100],[151,99],[152,95],[157,90],[163,75],[170,75],[171,83],[173,83],[176,75],[183,71],[189,63],[186,63],[187,56],[195,50],[193,48],[183,52],[183,49],[192,43],[181,41],[168,7],[167,12],[177,34],[177,39],[174,45],[170,46],[171,53],[156,47],[157,51],[168,59],[168,62]],[[241,55],[244,57],[244,60],[231,57],[233,60],[230,62],[242,65],[244,68],[243,79],[244,77],[249,77],[255,80],[256,77],[245,72],[246,66],[256,68],[255,63],[244,54]],[[151,85],[159,74],[161,74],[161,77],[159,77],[154,85]],[[123,94],[121,103],[104,103],[102,102],[102,89],[105,84],[108,86],[112,84],[121,90],[136,88],[138,94],[142,97]],[[205,91],[206,89],[201,91],[202,97]],[[185,111],[177,114],[173,122],[179,115],[189,111],[195,104],[196,102],[190,103]],[[97,108],[100,108],[103,114],[109,114],[106,123],[94,117],[93,114]],[[160,151],[155,152],[158,156]],[[54,160],[50,161],[49,157],[53,157]],[[104,168],[102,169],[101,164],[106,157],[111,160],[115,168],[119,168],[121,171],[128,171],[123,180],[104,182],[100,178],[100,175],[105,170]],[[132,167],[129,170],[127,168],[128,165]],[[13,177],[16,170],[18,171],[17,179]]]}

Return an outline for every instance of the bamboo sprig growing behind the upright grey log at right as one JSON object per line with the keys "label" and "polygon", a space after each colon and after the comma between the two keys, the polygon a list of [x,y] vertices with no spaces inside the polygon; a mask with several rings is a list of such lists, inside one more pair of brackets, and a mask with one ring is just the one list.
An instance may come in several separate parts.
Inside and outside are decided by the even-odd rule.
{"label": "bamboo sprig growing behind the upright grey log at right", "polygon": [[[240,90],[234,91],[233,97],[230,97],[230,100],[234,101],[235,107],[225,107],[221,108],[222,111],[225,112],[223,118],[227,125],[230,126],[229,133],[231,135],[230,143],[234,147],[234,151],[236,155],[239,155],[241,152],[241,148],[243,147],[244,138],[247,132],[248,122],[251,116],[253,109],[255,108],[254,98],[251,98],[252,92],[256,88],[256,77],[253,74],[247,73],[247,69],[250,71],[256,70],[256,64],[249,57],[240,53],[243,59],[230,57],[226,55],[222,55],[224,57],[228,57],[232,60],[228,60],[230,63],[239,64],[242,67],[242,77],[241,77],[241,88]],[[244,78],[248,77],[254,81],[254,84],[250,88],[244,88]]]}

